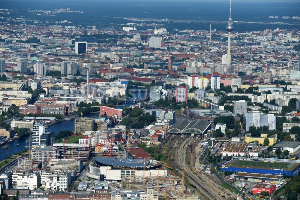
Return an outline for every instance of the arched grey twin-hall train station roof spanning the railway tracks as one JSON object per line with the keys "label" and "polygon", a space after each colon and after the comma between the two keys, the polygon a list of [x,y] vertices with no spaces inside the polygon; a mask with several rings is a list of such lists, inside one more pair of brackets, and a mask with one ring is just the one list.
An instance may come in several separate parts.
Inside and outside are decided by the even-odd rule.
{"label": "arched grey twin-hall train station roof spanning the railway tracks", "polygon": [[210,126],[210,123],[207,120],[180,120],[176,122],[169,133],[193,133],[193,134],[202,134]]}

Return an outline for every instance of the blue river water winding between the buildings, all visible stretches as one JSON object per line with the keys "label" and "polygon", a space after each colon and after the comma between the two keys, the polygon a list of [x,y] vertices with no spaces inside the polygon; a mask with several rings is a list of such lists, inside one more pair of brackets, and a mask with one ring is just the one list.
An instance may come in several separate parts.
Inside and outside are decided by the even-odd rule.
{"label": "blue river water winding between the buildings, all visible stretches", "polygon": [[[140,94],[138,94],[138,92],[134,92],[134,95],[138,98],[143,98],[144,97],[144,92],[140,92]],[[133,98],[130,98],[133,99]],[[127,103],[122,103],[122,105],[119,106],[119,108],[126,108],[130,105],[134,105],[134,102],[127,102]],[[99,117],[99,113],[91,113],[86,115],[85,117]],[[65,120],[62,121],[60,123],[54,124],[53,126],[50,126],[48,128],[48,130],[50,132],[54,132],[54,134],[58,134],[60,131],[65,131],[65,130],[70,130],[70,131],[74,131],[74,120]],[[6,143],[0,146],[0,161],[4,160],[7,156],[12,156],[13,153],[18,153],[23,149],[28,149],[26,148],[26,146],[28,146],[28,139],[30,136],[26,136],[24,138],[20,138],[20,139],[16,139],[14,140],[12,143]],[[26,143],[27,141],[27,143]],[[19,144],[19,146],[16,146],[17,144]],[[2,147],[4,145],[7,145],[8,148],[7,149],[2,149]]]}

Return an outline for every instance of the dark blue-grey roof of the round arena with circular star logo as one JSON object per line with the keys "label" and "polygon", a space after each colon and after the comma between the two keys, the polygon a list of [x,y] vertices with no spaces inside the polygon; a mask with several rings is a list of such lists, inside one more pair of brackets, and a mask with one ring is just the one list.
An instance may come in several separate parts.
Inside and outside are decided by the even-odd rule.
{"label": "dark blue-grey roof of the round arena with circular star logo", "polygon": [[[143,168],[144,160],[143,159],[119,159],[119,158],[107,158],[100,157],[95,158],[95,161],[100,165],[112,166],[112,167],[136,167]],[[146,168],[149,168],[149,159],[145,159]]]}

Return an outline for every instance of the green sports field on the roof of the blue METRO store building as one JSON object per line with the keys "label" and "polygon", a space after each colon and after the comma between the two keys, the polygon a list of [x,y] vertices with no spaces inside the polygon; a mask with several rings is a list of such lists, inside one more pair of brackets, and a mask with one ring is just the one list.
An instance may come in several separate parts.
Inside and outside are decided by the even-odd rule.
{"label": "green sports field on the roof of the blue METRO store building", "polygon": [[237,160],[231,166],[243,166],[243,167],[258,167],[269,169],[289,169],[291,168],[290,162],[263,162],[263,161],[250,161],[250,160]]}

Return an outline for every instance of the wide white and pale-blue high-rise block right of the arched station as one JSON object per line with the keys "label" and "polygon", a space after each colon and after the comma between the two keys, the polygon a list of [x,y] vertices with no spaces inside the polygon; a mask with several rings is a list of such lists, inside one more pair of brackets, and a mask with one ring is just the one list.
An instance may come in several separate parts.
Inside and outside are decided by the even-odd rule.
{"label": "wide white and pale-blue high-rise block right of the arched station", "polygon": [[246,131],[249,131],[250,126],[261,127],[268,126],[269,130],[276,129],[276,115],[263,114],[259,111],[247,112]]}

